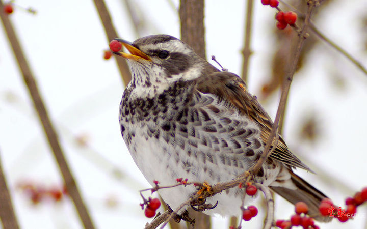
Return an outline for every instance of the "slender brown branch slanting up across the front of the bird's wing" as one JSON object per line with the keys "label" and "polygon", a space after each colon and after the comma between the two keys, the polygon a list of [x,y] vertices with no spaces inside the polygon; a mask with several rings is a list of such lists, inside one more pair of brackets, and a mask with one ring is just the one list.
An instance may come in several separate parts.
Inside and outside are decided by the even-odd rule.
{"label": "slender brown branch slanting up across the front of the bird's wing", "polygon": [[[277,113],[276,113],[276,116],[275,116],[275,121],[274,121],[274,124],[273,124],[273,128],[272,128],[272,131],[269,134],[269,139],[268,139],[268,141],[266,143],[266,146],[265,146],[265,149],[263,151],[264,153],[261,154],[260,159],[257,161],[257,163],[250,170],[250,173],[252,173],[252,174],[257,174],[258,170],[261,168],[261,166],[263,165],[265,160],[271,154],[271,151],[269,151],[269,150],[270,150],[270,147],[272,146],[272,142],[273,142],[273,139],[274,139],[275,135],[278,135],[277,130],[278,130],[278,126],[279,126],[279,120],[280,120],[280,117],[281,117],[282,113],[284,112],[285,103],[286,103],[286,100],[287,100],[287,97],[288,97],[288,94],[289,94],[289,89],[291,87],[293,75],[296,71],[298,59],[301,55],[302,46],[304,44],[304,41],[305,41],[306,37],[308,36],[306,31],[307,31],[307,28],[309,26],[311,13],[312,13],[312,10],[313,10],[314,7],[315,7],[314,6],[314,1],[312,1],[312,0],[308,1],[308,10],[307,10],[305,22],[302,26],[301,32],[299,33],[299,39],[298,39],[297,47],[296,47],[296,50],[295,50],[295,52],[293,54],[293,58],[292,58],[293,62],[291,63],[290,68],[286,73],[284,88],[283,88],[281,96],[280,96],[279,106],[278,106],[278,110],[277,110]],[[276,146],[274,146],[273,148],[275,148],[275,147]]]}

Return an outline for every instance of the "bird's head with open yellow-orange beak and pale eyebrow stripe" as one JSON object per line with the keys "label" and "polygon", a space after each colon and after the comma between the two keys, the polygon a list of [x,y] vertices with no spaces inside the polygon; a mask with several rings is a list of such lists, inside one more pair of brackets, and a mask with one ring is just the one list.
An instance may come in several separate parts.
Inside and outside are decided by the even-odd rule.
{"label": "bird's head with open yellow-orange beak and pale eyebrow stripe", "polygon": [[130,43],[116,38],[130,52],[114,52],[129,61],[132,83],[142,88],[146,96],[153,96],[178,80],[200,77],[204,69],[214,67],[200,58],[181,40],[169,35],[151,35]]}

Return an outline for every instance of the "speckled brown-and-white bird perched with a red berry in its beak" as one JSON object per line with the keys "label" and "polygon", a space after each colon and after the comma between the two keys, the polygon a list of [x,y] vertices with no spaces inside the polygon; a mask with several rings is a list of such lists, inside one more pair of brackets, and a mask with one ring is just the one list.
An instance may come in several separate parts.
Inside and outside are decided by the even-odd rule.
{"label": "speckled brown-and-white bird perched with a red berry in its beak", "polygon": [[[273,121],[238,75],[219,70],[170,35],[115,40],[129,53],[113,53],[128,60],[132,73],[119,108],[121,134],[150,185],[172,185],[181,177],[227,182],[259,160]],[[316,220],[330,221],[318,208],[327,196],[294,173],[295,168],[311,169],[280,135],[274,145],[273,141],[274,151],[253,180],[292,204],[305,202]],[[158,190],[172,209],[197,191],[193,186]],[[217,206],[204,213],[241,215],[243,198],[245,203],[252,198],[243,192],[235,187],[208,197],[206,202]]]}

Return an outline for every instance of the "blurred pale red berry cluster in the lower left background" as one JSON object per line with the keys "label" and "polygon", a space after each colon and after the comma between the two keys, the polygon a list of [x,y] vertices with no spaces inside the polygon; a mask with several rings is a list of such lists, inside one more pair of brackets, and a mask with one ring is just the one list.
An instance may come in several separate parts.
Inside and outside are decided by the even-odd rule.
{"label": "blurred pale red berry cluster in the lower left background", "polygon": [[66,187],[50,187],[46,188],[43,185],[36,185],[33,183],[20,183],[18,188],[21,189],[25,195],[31,200],[32,204],[36,205],[46,199],[52,199],[55,202],[62,200],[64,195],[67,195]]}

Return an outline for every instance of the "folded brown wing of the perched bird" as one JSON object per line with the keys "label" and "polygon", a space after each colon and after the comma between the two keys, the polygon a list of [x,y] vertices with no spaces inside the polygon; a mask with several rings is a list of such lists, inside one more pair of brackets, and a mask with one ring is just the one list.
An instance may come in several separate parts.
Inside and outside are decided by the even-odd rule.
{"label": "folded brown wing of the perched bird", "polygon": [[[273,122],[256,97],[247,91],[245,82],[239,76],[229,72],[216,72],[199,77],[196,81],[198,91],[214,94],[219,97],[220,101],[237,108],[242,115],[260,127],[261,139],[264,144],[268,141]],[[275,140],[273,140],[274,144]],[[279,136],[278,145],[270,157],[290,167],[311,171],[307,165],[289,151],[281,136]]]}

